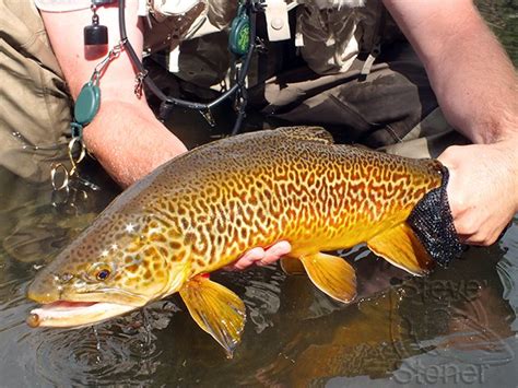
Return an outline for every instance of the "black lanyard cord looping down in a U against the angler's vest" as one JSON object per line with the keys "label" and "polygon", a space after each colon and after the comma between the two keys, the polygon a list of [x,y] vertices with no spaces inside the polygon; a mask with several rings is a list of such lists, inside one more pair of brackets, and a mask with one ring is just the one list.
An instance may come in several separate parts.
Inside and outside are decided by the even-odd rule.
{"label": "black lanyard cord looping down in a U against the angler's vest", "polygon": [[250,44],[248,47],[248,52],[246,54],[245,60],[243,61],[243,66],[240,71],[237,74],[236,83],[228,89],[225,93],[221,96],[215,98],[214,101],[210,102],[209,104],[201,104],[196,102],[190,102],[187,99],[175,98],[172,96],[167,96],[164,92],[161,91],[158,86],[153,82],[153,80],[148,77],[148,71],[144,69],[142,61],[139,59],[139,56],[134,51],[131,43],[128,39],[128,35],[126,33],[126,19],[125,19],[125,7],[126,0],[118,0],[119,3],[119,32],[120,32],[120,40],[123,43],[126,50],[129,54],[131,61],[133,62],[134,67],[139,71],[137,75],[138,82],[144,82],[148,89],[156,95],[161,101],[161,108],[160,108],[160,117],[161,119],[165,119],[167,117],[168,111],[174,106],[179,106],[188,109],[199,110],[203,117],[207,118],[207,114],[210,117],[211,108],[220,105],[226,98],[229,98],[236,94],[239,94],[242,102],[238,107],[236,122],[232,130],[232,134],[236,134],[239,131],[240,124],[243,122],[243,118],[245,116],[245,107],[247,102],[247,93],[245,87],[245,79],[248,73],[248,69],[250,66],[251,57],[254,51],[256,50],[256,14],[259,9],[262,9],[260,2],[256,2],[256,0],[246,1],[246,8],[248,11],[248,16],[250,20]]}

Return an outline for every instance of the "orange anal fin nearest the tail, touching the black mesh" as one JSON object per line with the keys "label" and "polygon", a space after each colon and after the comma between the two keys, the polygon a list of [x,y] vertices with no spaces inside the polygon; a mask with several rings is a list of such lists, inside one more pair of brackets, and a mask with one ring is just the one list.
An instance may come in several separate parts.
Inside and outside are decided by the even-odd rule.
{"label": "orange anal fin nearest the tail, touching the black mesh", "polygon": [[434,261],[407,223],[401,223],[367,242],[368,248],[396,267],[423,277]]}

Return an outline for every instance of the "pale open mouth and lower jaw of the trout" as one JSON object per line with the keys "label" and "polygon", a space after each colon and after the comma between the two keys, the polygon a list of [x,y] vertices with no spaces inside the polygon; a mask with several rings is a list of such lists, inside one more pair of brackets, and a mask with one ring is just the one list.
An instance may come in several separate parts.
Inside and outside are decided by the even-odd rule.
{"label": "pale open mouth and lower jaw of the trout", "polygon": [[70,328],[97,324],[138,308],[108,302],[57,301],[33,309],[27,318],[32,328]]}

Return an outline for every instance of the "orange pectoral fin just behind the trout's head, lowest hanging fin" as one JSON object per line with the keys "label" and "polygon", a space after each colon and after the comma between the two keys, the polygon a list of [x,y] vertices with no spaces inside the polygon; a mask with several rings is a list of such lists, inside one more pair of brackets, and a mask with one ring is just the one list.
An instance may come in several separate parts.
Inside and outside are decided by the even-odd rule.
{"label": "orange pectoral fin just behind the trout's head, lowest hanging fin", "polygon": [[179,291],[191,317],[231,358],[245,328],[245,304],[231,290],[201,275]]}

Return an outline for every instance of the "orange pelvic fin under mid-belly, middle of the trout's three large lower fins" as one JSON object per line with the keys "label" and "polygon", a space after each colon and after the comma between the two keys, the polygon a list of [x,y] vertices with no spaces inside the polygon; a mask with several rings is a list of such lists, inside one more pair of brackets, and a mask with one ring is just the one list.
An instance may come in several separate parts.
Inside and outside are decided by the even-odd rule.
{"label": "orange pelvic fin under mid-belly, middle of the trout's three large lower fins", "polygon": [[350,303],[356,296],[356,274],[344,259],[316,254],[301,257],[311,282],[332,298]]}

